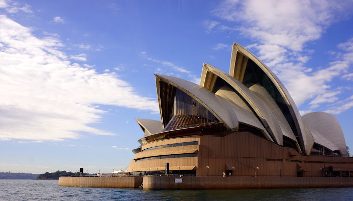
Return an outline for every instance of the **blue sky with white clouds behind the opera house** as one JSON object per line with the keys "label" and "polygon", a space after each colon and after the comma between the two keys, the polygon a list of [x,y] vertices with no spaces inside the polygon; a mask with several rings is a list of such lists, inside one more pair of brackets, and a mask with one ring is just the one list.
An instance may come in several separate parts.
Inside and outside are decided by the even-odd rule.
{"label": "blue sky with white clouds behind the opera house", "polygon": [[353,149],[352,1],[0,0],[0,171],[125,169],[160,120],[154,74],[198,83],[237,42],[302,115],[328,112]]}

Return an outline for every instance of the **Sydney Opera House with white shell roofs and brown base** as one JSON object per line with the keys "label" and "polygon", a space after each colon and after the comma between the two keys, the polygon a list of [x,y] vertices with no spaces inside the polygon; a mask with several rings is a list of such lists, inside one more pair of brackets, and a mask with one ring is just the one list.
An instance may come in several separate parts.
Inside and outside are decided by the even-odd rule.
{"label": "Sydney Opera House with white shell roofs and brown base", "polygon": [[301,116],[276,75],[233,44],[226,73],[204,64],[200,84],[156,74],[161,121],[144,132],[132,175],[353,176],[337,119]]}

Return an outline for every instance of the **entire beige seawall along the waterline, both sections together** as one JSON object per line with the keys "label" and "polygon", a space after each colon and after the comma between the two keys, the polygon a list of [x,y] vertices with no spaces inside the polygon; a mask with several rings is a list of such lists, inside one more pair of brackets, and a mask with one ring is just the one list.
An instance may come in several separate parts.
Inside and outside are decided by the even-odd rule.
{"label": "entire beige seawall along the waterline, both sections together", "polygon": [[[175,181],[177,180],[177,182]],[[181,179],[181,180],[180,180]],[[144,189],[253,189],[353,187],[353,177],[60,177],[59,185]]]}

